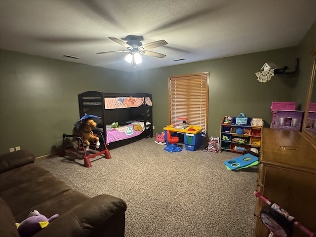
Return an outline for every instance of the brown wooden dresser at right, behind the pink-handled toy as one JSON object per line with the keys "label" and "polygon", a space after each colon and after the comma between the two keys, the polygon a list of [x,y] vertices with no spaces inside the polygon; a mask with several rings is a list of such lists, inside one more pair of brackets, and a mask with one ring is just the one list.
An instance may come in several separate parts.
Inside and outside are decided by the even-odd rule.
{"label": "brown wooden dresser at right, behind the pink-handled toy", "polygon": [[[316,149],[302,133],[263,128],[257,191],[316,232]],[[265,206],[257,197],[255,237],[270,233],[259,217]],[[305,235],[294,227],[291,237]]]}

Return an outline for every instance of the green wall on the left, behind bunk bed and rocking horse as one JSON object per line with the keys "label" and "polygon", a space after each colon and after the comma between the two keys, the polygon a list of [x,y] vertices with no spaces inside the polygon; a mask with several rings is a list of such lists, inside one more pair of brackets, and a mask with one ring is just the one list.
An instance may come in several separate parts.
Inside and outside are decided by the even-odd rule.
{"label": "green wall on the left, behind bunk bed and rocking horse", "polygon": [[127,74],[115,70],[6,50],[0,66],[1,154],[16,146],[50,154],[79,119],[79,93],[128,92]]}

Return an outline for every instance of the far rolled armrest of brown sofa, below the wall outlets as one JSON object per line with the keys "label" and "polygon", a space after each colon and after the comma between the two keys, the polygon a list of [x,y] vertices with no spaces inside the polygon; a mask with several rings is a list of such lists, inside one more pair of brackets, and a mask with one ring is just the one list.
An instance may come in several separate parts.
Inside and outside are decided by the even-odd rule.
{"label": "far rolled armrest of brown sofa, below the wall outlets", "polygon": [[27,150],[20,150],[0,155],[0,173],[29,163],[34,163],[35,156]]}

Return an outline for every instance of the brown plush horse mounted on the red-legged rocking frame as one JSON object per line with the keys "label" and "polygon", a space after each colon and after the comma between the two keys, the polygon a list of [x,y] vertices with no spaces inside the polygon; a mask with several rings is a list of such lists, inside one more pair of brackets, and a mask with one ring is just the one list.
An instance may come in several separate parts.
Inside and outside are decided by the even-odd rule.
{"label": "brown plush horse mounted on the red-legged rocking frame", "polygon": [[[96,127],[97,123],[93,120],[93,119],[86,119],[79,127],[78,129],[78,135],[80,137],[82,137],[82,140],[84,142],[85,145],[85,150],[88,151],[89,150],[89,146],[90,146],[90,142],[92,142],[93,144],[95,144],[95,148],[99,148],[100,147],[100,139],[97,136],[94,136],[93,132],[92,132],[92,128]],[[78,144],[76,143],[74,145],[75,149],[78,149]]]}

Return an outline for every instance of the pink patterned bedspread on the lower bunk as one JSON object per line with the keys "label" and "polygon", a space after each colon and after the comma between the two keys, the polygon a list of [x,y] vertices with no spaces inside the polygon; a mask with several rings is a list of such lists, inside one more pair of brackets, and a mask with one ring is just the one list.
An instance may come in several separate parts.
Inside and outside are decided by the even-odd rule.
{"label": "pink patterned bedspread on the lower bunk", "polygon": [[107,130],[107,145],[110,142],[120,141],[132,137],[136,137],[143,132],[140,125],[126,125],[123,127],[112,128]]}

